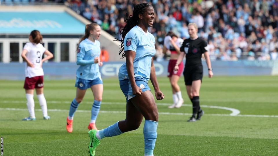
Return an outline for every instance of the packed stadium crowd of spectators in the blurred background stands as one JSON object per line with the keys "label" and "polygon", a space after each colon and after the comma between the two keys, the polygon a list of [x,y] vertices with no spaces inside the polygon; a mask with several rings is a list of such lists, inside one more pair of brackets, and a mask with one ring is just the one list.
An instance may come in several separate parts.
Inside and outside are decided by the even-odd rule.
{"label": "packed stadium crowd of spectators in the blurred background stands", "polygon": [[208,42],[212,60],[278,59],[278,0],[67,0],[65,4],[120,38],[117,33],[125,26],[126,12],[131,15],[140,2],[152,3],[156,12],[149,31],[156,37],[157,59],[164,56],[165,34],[171,30],[189,38],[191,22]]}

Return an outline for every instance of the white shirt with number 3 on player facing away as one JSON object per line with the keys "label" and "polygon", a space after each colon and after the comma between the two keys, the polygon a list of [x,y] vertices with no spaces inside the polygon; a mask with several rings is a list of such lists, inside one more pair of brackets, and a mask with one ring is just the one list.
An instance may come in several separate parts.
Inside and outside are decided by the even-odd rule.
{"label": "white shirt with number 3 on player facing away", "polygon": [[35,77],[43,75],[43,68],[41,68],[41,59],[45,48],[41,43],[34,44],[28,42],[25,44],[24,48],[27,50],[26,57],[27,59],[34,64],[34,67],[29,67],[25,64],[25,77]]}

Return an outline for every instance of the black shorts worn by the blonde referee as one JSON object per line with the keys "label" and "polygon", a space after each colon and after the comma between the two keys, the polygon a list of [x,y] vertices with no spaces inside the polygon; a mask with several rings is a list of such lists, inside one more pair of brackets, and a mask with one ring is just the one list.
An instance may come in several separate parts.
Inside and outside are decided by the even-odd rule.
{"label": "black shorts worn by the blonde referee", "polygon": [[203,66],[186,66],[183,71],[185,85],[192,85],[192,81],[203,78]]}

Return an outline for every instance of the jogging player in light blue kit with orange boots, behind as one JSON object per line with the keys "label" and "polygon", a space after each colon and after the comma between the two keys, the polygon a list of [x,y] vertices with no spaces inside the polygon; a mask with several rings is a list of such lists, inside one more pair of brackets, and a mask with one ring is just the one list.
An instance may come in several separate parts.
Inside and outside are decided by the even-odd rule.
{"label": "jogging player in light blue kit with orange boots, behind", "polygon": [[78,44],[76,64],[80,66],[76,71],[76,97],[70,104],[69,116],[67,117],[66,129],[69,133],[72,132],[74,112],[78,104],[83,100],[87,88],[91,88],[94,95],[91,121],[88,129],[97,129],[95,122],[103,93],[103,82],[98,68],[98,66],[102,66],[99,58],[100,42],[98,41],[100,30],[100,26],[96,23],[86,25],[85,36],[81,38]]}

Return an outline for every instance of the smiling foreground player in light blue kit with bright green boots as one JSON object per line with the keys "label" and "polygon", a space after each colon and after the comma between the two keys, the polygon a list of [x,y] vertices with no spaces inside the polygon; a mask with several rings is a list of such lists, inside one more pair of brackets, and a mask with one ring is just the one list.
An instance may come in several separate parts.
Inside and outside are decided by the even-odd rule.
{"label": "smiling foreground player in light blue kit with bright green boots", "polygon": [[89,131],[90,155],[95,155],[100,139],[135,130],[144,117],[145,156],[153,156],[157,137],[158,110],[148,86],[149,79],[153,84],[156,99],[164,99],[158,87],[153,65],[153,56],[156,53],[155,38],[148,32],[153,21],[154,10],[148,3],[135,5],[133,16],[126,19],[127,25],[121,30],[122,40],[120,40],[124,47],[120,50],[120,54],[124,51],[122,57],[126,57],[126,63],[119,69],[120,88],[127,99],[126,119],[100,131]]}

